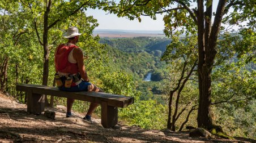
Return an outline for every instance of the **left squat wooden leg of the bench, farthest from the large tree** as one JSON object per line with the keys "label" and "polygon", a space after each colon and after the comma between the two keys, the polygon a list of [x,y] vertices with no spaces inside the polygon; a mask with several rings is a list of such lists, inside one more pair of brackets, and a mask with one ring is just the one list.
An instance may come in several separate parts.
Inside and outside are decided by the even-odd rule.
{"label": "left squat wooden leg of the bench, farthest from the large tree", "polygon": [[45,107],[45,95],[33,93],[32,90],[27,92],[27,112],[41,114]]}

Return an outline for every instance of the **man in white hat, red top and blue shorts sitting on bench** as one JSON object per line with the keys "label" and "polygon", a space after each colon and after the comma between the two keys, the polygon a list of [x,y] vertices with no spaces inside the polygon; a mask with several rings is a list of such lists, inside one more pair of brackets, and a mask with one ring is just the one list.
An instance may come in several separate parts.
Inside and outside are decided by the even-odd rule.
{"label": "man in white hat, red top and blue shorts sitting on bench", "polygon": [[[54,55],[54,63],[56,69],[57,86],[62,91],[93,91],[103,92],[99,87],[92,83],[89,83],[89,78],[84,67],[84,56],[82,50],[76,46],[79,35],[78,28],[70,27],[67,32],[63,34],[63,37],[67,38],[68,41],[65,44],[60,44],[56,48]],[[59,81],[61,83],[59,83]],[[67,113],[66,117],[71,117],[71,108],[74,103],[74,99],[67,99]],[[91,102],[85,120],[91,121],[91,115],[93,111],[99,106],[99,104]]]}

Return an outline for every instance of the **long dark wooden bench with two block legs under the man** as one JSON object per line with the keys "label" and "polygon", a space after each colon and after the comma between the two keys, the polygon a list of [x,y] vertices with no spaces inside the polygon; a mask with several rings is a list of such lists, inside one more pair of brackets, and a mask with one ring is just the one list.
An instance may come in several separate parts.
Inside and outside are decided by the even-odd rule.
{"label": "long dark wooden bench with two block legs under the man", "polygon": [[104,128],[110,128],[118,122],[117,108],[125,108],[133,104],[133,97],[113,95],[103,92],[66,92],[57,87],[41,86],[35,84],[18,84],[16,90],[27,92],[28,113],[41,114],[45,108],[45,96],[52,95],[70,99],[95,102],[101,105],[101,124]]}

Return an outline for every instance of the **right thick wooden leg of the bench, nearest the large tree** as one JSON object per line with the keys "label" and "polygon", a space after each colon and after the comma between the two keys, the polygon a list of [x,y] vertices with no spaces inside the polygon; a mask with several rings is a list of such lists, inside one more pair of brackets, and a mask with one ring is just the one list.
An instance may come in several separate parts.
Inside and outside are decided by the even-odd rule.
{"label": "right thick wooden leg of the bench, nearest the large tree", "polygon": [[117,107],[108,106],[107,102],[101,103],[101,124],[104,128],[110,128],[117,124]]}

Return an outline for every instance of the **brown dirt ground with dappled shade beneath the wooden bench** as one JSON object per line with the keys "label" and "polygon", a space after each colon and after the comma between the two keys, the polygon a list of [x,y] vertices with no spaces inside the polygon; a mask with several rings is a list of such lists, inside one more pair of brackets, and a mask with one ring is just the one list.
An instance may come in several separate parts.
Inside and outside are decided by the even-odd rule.
{"label": "brown dirt ground with dappled shade beneath the wooden bench", "polygon": [[87,122],[79,113],[66,118],[65,106],[46,110],[55,111],[55,120],[42,114],[28,114],[27,105],[0,93],[0,142],[255,142],[248,138],[191,138],[188,131],[172,132],[169,129],[125,125],[103,128],[100,119]]}

